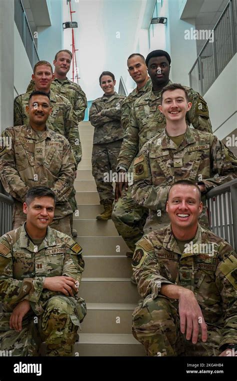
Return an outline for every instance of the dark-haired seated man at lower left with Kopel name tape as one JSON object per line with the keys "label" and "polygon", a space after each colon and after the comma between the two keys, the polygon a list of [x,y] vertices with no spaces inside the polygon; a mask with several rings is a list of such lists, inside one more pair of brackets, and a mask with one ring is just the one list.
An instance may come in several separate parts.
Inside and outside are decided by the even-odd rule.
{"label": "dark-haired seated man at lower left with Kopel name tape", "polygon": [[55,195],[47,187],[28,190],[26,222],[0,237],[0,350],[12,356],[71,356],[86,314],[77,295],[84,261],[81,247],[51,229]]}

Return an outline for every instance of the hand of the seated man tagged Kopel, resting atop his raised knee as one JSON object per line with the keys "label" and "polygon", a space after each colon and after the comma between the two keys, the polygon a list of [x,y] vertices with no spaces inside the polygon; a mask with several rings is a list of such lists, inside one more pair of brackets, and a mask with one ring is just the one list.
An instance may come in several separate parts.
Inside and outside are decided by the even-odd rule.
{"label": "hand of the seated man tagged Kopel, resting atop his raised knee", "polygon": [[73,290],[78,291],[77,281],[70,276],[52,276],[46,277],[43,283],[43,288],[51,291],[62,292],[66,296],[73,296]]}

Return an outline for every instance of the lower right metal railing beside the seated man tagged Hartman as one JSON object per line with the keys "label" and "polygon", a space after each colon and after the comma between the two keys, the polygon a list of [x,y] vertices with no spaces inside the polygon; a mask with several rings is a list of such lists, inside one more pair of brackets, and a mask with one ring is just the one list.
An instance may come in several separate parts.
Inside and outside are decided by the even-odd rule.
{"label": "lower right metal railing beside the seated man tagged Hartman", "polygon": [[211,231],[237,250],[237,179],[206,193]]}

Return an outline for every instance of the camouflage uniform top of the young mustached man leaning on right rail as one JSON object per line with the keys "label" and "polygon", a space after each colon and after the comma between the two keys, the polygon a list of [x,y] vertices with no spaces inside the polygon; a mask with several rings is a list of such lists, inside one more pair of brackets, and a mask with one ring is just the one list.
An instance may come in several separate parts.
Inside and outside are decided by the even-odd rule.
{"label": "camouflage uniform top of the young mustached man leaning on right rail", "polygon": [[[203,183],[208,192],[235,177],[237,159],[216,136],[187,127],[177,147],[164,130],[144,144],[134,160],[131,195],[135,202],[149,209],[144,232],[169,223],[165,203],[168,187],[175,181]],[[205,195],[202,202],[199,221],[208,227]]]}

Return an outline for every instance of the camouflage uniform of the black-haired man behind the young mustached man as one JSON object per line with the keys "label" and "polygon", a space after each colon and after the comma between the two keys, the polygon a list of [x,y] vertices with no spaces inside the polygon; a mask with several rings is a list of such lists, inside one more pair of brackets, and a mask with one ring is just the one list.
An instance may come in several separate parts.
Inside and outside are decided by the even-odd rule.
{"label": "camouflage uniform of the black-haired man behind the young mustached man", "polygon": [[[171,83],[169,81],[168,85]],[[188,101],[192,102],[191,109],[186,113],[186,123],[188,125],[191,123],[197,130],[212,132],[206,102],[193,89],[186,86],[184,88],[188,92]],[[132,172],[133,159],[137,151],[165,128],[165,117],[158,109],[160,92],[153,92],[151,88],[135,101],[118,156],[117,168],[122,166]],[[112,220],[118,233],[132,251],[134,251],[135,242],[143,234],[142,227],[146,217],[147,210],[132,201],[130,187],[127,192],[123,189],[122,197],[115,203]]]}

